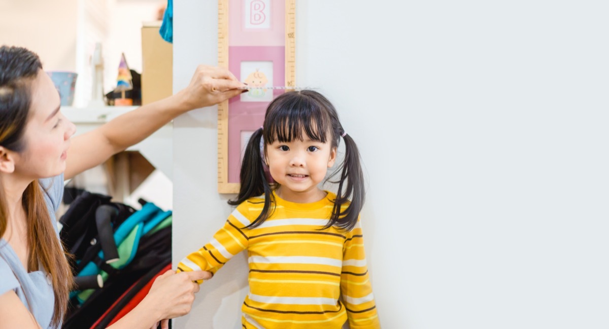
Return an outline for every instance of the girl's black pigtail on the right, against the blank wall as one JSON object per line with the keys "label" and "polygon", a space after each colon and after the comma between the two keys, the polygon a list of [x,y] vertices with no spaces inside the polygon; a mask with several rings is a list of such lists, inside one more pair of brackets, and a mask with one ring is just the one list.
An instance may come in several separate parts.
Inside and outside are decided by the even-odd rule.
{"label": "girl's black pigtail on the right, against the blank wall", "polygon": [[[362,173],[359,150],[357,150],[355,141],[347,134],[343,136],[343,140],[345,141],[345,159],[339,168],[339,188],[332,216],[326,228],[336,224],[341,229],[350,231],[357,224],[357,218],[364,206],[364,173]],[[347,182],[346,187],[345,181]],[[351,204],[341,211],[343,204],[348,203],[349,200],[351,200]]]}

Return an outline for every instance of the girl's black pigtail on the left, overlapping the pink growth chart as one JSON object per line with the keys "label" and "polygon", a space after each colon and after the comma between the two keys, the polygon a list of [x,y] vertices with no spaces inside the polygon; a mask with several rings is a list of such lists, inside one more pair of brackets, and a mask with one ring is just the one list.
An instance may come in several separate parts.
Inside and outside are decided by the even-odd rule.
{"label": "girl's black pigtail on the left, overlapping the pink growth chart", "polygon": [[231,206],[238,206],[249,198],[264,194],[264,207],[258,218],[246,226],[250,229],[262,224],[267,219],[271,204],[270,198],[272,196],[269,182],[267,182],[264,173],[264,166],[262,165],[261,140],[262,128],[259,128],[252,134],[245,148],[241,164],[241,189],[239,189],[239,195],[236,199],[228,201],[228,204]]}

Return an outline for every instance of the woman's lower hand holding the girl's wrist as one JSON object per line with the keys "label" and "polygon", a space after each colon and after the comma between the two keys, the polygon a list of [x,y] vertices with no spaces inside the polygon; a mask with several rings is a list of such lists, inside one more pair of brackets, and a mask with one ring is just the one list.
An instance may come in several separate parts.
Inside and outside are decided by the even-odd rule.
{"label": "woman's lower hand holding the girl's wrist", "polygon": [[163,328],[168,328],[169,322],[164,319],[190,312],[194,294],[200,289],[194,281],[211,279],[211,276],[210,272],[205,271],[175,273],[170,269],[157,277],[142,302],[146,302],[145,307],[153,310],[158,320],[163,320]]}

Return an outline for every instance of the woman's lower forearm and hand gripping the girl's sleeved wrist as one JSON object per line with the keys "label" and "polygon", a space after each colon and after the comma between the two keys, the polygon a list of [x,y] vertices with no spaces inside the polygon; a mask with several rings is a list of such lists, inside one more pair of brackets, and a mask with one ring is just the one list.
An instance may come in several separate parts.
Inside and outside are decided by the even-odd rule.
{"label": "woman's lower forearm and hand gripping the girl's sleeved wrist", "polygon": [[192,302],[194,302],[194,294],[199,291],[199,285],[194,281],[209,278],[211,278],[211,273],[202,271],[175,273],[169,270],[165,272],[152,283],[149,293],[138,306],[135,306],[132,311],[108,329],[156,328],[155,324],[162,319],[172,319],[188,314]]}

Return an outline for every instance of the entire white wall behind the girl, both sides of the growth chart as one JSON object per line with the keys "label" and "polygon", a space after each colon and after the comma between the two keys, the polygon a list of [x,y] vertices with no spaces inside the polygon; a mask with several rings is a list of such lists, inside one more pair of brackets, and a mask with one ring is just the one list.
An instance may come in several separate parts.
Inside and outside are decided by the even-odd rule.
{"label": "entire white wall behind the girl, both sides of the growth chart", "polygon": [[[217,2],[174,2],[174,90],[217,63]],[[602,1],[298,1],[297,85],[361,148],[383,328],[607,328]],[[216,108],[174,125],[174,264],[230,213]],[[240,255],[175,328],[240,328]]]}

